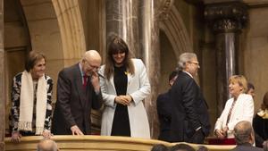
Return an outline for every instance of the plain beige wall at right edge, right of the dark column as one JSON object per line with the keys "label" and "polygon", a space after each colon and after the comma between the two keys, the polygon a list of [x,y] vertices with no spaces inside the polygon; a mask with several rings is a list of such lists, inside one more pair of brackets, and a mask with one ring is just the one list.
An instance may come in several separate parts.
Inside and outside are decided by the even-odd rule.
{"label": "plain beige wall at right edge, right of the dark column", "polygon": [[244,49],[244,71],[247,80],[255,85],[255,111],[268,91],[268,7],[249,9],[249,22]]}

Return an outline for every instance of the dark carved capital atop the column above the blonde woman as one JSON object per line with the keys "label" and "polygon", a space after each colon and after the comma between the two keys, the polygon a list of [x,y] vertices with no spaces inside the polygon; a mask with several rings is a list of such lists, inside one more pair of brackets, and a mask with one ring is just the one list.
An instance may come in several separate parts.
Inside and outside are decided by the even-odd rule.
{"label": "dark carved capital atop the column above the blonde woman", "polygon": [[236,32],[247,25],[247,5],[242,2],[205,5],[205,20],[216,32]]}

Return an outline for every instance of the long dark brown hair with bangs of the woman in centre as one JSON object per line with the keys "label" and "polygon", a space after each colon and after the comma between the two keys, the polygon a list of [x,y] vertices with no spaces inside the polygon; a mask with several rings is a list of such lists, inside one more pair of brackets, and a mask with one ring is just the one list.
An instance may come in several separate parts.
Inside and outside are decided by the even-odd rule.
{"label": "long dark brown hair with bangs of the woman in centre", "polygon": [[113,55],[121,52],[125,53],[125,59],[123,63],[126,66],[127,71],[132,75],[135,74],[135,68],[134,64],[131,61],[129,46],[123,39],[114,37],[108,46],[108,56],[106,57],[105,62],[105,76],[107,79],[111,78],[114,71]]}

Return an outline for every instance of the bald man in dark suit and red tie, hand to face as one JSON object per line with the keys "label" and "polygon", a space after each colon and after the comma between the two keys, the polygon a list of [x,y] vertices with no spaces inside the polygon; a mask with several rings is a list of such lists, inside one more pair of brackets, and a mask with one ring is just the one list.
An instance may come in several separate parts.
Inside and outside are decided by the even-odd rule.
{"label": "bald man in dark suit and red tie, hand to face", "polygon": [[60,71],[52,122],[55,135],[90,134],[91,108],[99,109],[102,105],[97,73],[100,65],[101,56],[89,50],[80,63]]}

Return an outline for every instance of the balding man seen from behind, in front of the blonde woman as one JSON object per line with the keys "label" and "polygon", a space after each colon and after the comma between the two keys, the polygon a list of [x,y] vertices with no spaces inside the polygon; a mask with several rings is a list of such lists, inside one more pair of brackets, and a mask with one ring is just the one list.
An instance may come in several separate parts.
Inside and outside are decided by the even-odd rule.
{"label": "balding man seen from behind, in front of the blonde woman", "polygon": [[234,136],[237,147],[231,151],[263,151],[263,148],[253,147],[255,142],[254,130],[250,122],[241,121],[234,127]]}

